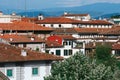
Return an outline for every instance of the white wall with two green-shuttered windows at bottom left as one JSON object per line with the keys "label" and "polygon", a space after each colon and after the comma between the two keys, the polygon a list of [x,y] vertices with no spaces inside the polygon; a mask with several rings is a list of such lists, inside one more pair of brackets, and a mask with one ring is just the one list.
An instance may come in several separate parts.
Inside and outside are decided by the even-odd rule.
{"label": "white wall with two green-shuttered windows at bottom left", "polygon": [[[47,66],[46,66],[47,65]],[[38,75],[32,75],[32,68],[38,68]],[[22,68],[22,72],[18,72],[17,69]],[[1,70],[2,69],[2,70]],[[7,69],[13,70],[13,77],[9,77],[10,80],[44,80],[44,76],[50,74],[51,63],[41,62],[24,62],[24,65],[16,66],[15,63],[6,63],[5,67],[0,67],[5,75],[7,75]],[[19,76],[22,75],[22,76]],[[19,76],[19,77],[18,77]]]}

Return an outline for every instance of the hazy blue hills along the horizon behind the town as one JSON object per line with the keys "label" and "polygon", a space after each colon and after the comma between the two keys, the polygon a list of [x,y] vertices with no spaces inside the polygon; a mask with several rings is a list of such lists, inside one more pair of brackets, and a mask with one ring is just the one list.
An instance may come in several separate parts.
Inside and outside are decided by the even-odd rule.
{"label": "hazy blue hills along the horizon behind the town", "polygon": [[[38,14],[43,14],[45,16],[60,16],[65,11],[70,13],[89,13],[93,18],[97,17],[108,17],[110,14],[120,13],[120,4],[115,3],[95,3],[84,6],[77,7],[59,7],[59,8],[47,8],[42,10],[29,10],[24,12],[24,10],[15,10],[20,15],[27,15],[29,17],[37,16]],[[10,12],[10,11],[9,11]],[[12,12],[12,10],[11,10]]]}

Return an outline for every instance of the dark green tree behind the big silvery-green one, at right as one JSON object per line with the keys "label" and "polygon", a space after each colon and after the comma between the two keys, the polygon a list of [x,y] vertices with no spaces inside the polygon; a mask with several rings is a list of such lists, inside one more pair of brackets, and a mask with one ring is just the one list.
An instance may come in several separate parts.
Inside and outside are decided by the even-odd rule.
{"label": "dark green tree behind the big silvery-green one, at right", "polygon": [[99,45],[96,47],[96,59],[98,63],[111,66],[114,71],[117,66],[116,58],[111,54],[111,47],[107,45]]}

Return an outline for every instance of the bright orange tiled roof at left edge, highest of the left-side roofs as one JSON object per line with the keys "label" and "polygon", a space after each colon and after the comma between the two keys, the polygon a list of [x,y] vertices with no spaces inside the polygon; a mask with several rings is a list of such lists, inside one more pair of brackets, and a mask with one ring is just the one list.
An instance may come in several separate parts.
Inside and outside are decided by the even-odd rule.
{"label": "bright orange tiled roof at left edge, highest of the left-side roofs", "polygon": [[24,21],[13,21],[12,23],[0,23],[0,30],[53,31],[52,28],[43,27],[31,22]]}

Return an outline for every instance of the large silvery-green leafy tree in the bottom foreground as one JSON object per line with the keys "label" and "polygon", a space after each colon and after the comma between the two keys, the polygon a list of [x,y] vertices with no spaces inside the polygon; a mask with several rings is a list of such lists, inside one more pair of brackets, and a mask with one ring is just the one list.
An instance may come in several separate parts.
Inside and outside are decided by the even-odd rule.
{"label": "large silvery-green leafy tree in the bottom foreground", "polygon": [[96,64],[96,60],[76,53],[62,62],[52,65],[51,75],[45,80],[114,80],[110,66]]}

